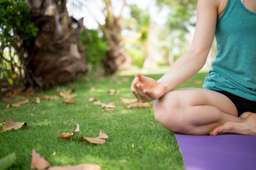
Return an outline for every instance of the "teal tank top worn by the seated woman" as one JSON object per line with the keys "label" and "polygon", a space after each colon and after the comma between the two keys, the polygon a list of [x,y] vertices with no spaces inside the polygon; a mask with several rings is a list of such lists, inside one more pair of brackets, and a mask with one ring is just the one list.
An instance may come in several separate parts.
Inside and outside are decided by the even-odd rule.
{"label": "teal tank top worn by the seated woman", "polygon": [[228,0],[215,36],[217,56],[203,88],[256,101],[256,13],[241,0]]}

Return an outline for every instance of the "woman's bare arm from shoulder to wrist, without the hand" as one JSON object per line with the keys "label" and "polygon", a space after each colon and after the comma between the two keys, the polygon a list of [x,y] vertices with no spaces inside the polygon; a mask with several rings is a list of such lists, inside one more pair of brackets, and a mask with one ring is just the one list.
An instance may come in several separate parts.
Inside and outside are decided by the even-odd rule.
{"label": "woman's bare arm from shoulder to wrist, without the hand", "polygon": [[167,91],[185,82],[204,66],[213,42],[218,17],[218,1],[198,0],[197,21],[191,47],[157,82]]}

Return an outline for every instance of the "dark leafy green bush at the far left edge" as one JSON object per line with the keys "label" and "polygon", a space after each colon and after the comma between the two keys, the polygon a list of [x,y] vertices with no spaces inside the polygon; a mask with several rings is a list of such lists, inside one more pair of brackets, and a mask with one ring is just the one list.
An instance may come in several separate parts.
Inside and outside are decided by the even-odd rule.
{"label": "dark leafy green bush at the far left edge", "polygon": [[24,0],[0,0],[0,83],[8,79],[12,90],[24,82],[26,50],[37,32]]}

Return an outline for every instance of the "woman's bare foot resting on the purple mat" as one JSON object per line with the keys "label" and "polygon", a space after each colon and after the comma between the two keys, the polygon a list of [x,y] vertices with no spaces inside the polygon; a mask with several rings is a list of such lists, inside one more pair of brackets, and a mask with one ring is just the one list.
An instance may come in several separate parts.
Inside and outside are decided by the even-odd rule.
{"label": "woman's bare foot resting on the purple mat", "polygon": [[226,122],[225,124],[216,127],[210,132],[210,135],[220,135],[224,133],[256,136],[256,113],[248,114],[245,120],[241,123]]}

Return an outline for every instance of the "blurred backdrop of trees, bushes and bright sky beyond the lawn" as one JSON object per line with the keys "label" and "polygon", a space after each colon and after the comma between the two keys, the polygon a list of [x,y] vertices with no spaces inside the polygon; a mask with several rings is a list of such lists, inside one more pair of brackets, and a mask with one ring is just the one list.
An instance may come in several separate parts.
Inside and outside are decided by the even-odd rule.
{"label": "blurred backdrop of trees, bushes and bright sky beyond the lawn", "polygon": [[[86,74],[170,68],[189,49],[197,0],[1,0],[1,94]],[[216,55],[213,42],[207,65]]]}

